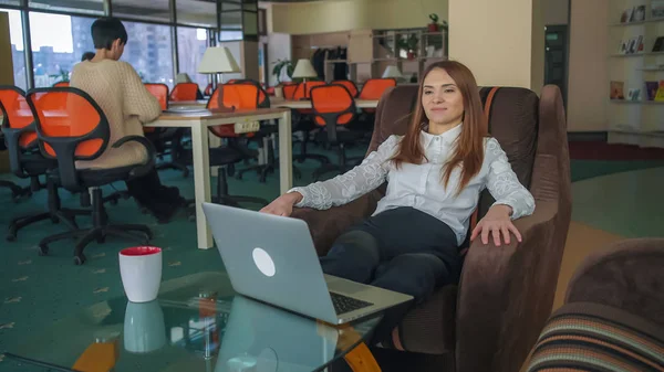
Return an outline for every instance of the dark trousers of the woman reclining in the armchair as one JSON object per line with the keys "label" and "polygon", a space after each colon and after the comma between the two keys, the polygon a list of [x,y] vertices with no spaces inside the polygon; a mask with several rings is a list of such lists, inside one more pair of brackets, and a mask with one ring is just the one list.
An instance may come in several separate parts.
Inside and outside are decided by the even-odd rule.
{"label": "dark trousers of the woman reclining in the armchair", "polygon": [[376,343],[436,287],[458,283],[463,259],[449,226],[419,210],[397,208],[351,227],[320,262],[325,274],[414,297],[385,311],[372,339]]}

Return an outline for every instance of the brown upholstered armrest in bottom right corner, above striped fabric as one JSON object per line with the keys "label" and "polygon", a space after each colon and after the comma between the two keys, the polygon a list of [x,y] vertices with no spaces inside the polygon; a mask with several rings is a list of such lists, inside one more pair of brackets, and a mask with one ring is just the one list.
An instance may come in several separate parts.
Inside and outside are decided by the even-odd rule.
{"label": "brown upholstered armrest in bottom right corner, above striped fabric", "polygon": [[587,257],[566,302],[595,302],[664,322],[664,238],[632,238]]}

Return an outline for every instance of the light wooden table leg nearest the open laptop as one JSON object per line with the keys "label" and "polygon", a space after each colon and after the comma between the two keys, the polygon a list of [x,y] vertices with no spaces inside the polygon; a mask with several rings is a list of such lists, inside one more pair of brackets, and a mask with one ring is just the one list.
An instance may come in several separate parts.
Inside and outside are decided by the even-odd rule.
{"label": "light wooden table leg nearest the open laptop", "polygon": [[194,192],[196,195],[196,236],[198,248],[211,248],[212,234],[208,228],[203,202],[210,202],[210,149],[208,128],[201,123],[191,126],[191,147],[194,156]]}

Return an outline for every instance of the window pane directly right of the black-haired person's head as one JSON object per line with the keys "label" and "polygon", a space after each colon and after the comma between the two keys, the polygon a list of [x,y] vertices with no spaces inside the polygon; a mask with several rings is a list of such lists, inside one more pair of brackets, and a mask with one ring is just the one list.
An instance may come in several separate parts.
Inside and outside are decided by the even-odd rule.
{"label": "window pane directly right of the black-haired person's head", "polygon": [[124,21],[128,41],[122,61],[128,62],[143,82],[164,83],[173,88],[170,26]]}

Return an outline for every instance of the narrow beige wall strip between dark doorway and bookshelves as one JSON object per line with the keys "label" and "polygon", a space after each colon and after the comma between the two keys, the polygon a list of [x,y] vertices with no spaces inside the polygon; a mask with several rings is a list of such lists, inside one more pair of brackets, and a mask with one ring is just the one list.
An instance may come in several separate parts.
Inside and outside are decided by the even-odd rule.
{"label": "narrow beige wall strip between dark doorway and bookshelves", "polygon": [[608,13],[605,0],[572,0],[568,131],[608,128]]}

